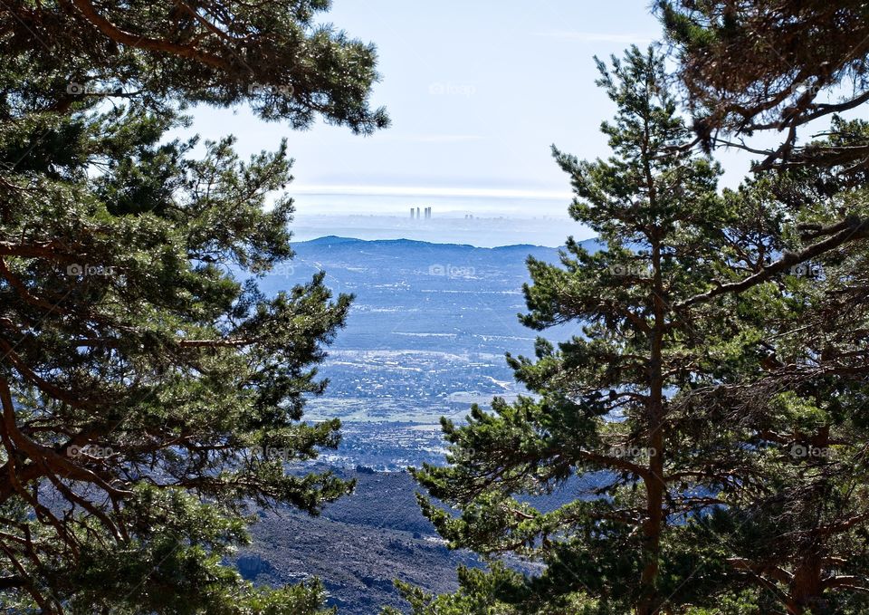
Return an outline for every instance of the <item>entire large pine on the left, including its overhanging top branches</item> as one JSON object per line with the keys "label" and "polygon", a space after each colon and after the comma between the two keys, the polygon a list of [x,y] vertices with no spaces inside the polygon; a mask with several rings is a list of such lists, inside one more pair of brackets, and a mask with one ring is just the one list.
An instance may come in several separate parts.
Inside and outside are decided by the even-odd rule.
{"label": "entire large pine on the left, including its overhanging top branches", "polygon": [[339,443],[301,418],[351,298],[258,290],[292,255],[285,142],[244,161],[171,133],[192,103],[384,126],[374,50],[327,7],[0,6],[5,610],[321,611],[320,583],[255,590],[225,560],[253,506],[352,488],[300,468]]}

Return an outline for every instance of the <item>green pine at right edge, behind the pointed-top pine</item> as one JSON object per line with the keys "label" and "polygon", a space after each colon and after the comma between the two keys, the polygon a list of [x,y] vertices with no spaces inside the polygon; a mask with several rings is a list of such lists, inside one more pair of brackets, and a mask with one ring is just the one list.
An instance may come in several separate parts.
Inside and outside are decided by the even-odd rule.
{"label": "green pine at right edge, behind the pointed-top pine", "polygon": [[[780,212],[773,235],[793,254],[843,209],[867,213],[864,188],[840,171],[764,173],[731,197]],[[759,360],[682,399],[715,408],[741,451],[731,465],[739,488],[694,525],[695,543],[724,548],[722,591],[753,588],[761,610],[860,613],[869,604],[866,258],[865,240],[848,242],[751,288]]]}

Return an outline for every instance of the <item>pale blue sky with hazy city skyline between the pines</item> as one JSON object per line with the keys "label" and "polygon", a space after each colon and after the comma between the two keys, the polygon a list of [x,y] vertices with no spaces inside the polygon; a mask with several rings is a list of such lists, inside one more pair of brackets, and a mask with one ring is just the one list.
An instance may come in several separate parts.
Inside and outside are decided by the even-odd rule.
{"label": "pale blue sky with hazy city skyline between the pines", "polygon": [[334,0],[329,21],[377,44],[383,81],[372,103],[387,106],[391,128],[298,132],[246,109],[195,111],[194,130],[232,132],[243,153],[289,139],[300,219],[407,216],[410,205],[565,216],[568,180],[549,145],[580,158],[608,153],[598,127],[613,106],[594,84],[592,56],[661,32],[638,0]]}

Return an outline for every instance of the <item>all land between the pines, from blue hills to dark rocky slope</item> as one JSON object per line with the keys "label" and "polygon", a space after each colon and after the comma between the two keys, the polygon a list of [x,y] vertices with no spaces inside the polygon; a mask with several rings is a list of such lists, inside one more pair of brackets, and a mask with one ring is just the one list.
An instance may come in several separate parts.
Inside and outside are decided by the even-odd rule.
{"label": "all land between the pines, from blue hills to dark rocky slope", "polygon": [[[586,245],[595,248],[593,241]],[[263,513],[253,526],[253,545],[240,553],[239,570],[267,583],[319,576],[331,604],[359,615],[400,606],[396,578],[449,591],[456,565],[475,560],[446,549],[419,513],[415,485],[403,470],[443,463],[441,416],[461,420],[474,402],[524,392],[504,352],[530,354],[537,335],[517,319],[525,310],[525,261],[533,255],[557,262],[558,250],[335,236],[293,249],[296,257],[261,281],[265,292],[325,271],[334,292],[356,296],[320,370],[329,388],[310,400],[306,417],[342,419],[339,450],[318,465],[357,478],[358,487],[315,519],[290,509]],[[558,340],[574,332],[562,327],[543,334]],[[555,497],[572,499],[578,488],[568,485]]]}

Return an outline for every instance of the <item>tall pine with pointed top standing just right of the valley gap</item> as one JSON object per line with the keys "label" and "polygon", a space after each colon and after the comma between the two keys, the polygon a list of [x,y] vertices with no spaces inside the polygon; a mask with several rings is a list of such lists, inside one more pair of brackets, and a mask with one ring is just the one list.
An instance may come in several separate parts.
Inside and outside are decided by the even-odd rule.
{"label": "tall pine with pointed top standing just right of the valley gap", "polygon": [[[571,216],[604,247],[571,238],[560,266],[530,259],[522,317],[537,330],[579,322],[582,335],[558,347],[540,339],[536,360],[508,355],[534,396],[473,407],[465,426],[444,419],[450,465],[415,470],[461,510],[421,499],[452,546],[546,564],[501,583],[500,599],[522,612],[591,599],[595,612],[649,614],[702,600],[725,564],[696,553],[687,521],[738,479],[710,452],[729,445],[709,429],[716,418],[676,393],[744,360],[755,323],[742,322],[740,296],[706,293],[759,270],[777,247],[755,232],[767,212],[722,200],[718,166],[685,147],[663,58],[634,48],[612,71],[598,65],[617,106],[602,126],[613,156],[554,155],[577,196]],[[589,478],[586,496],[555,510],[528,501]]]}

